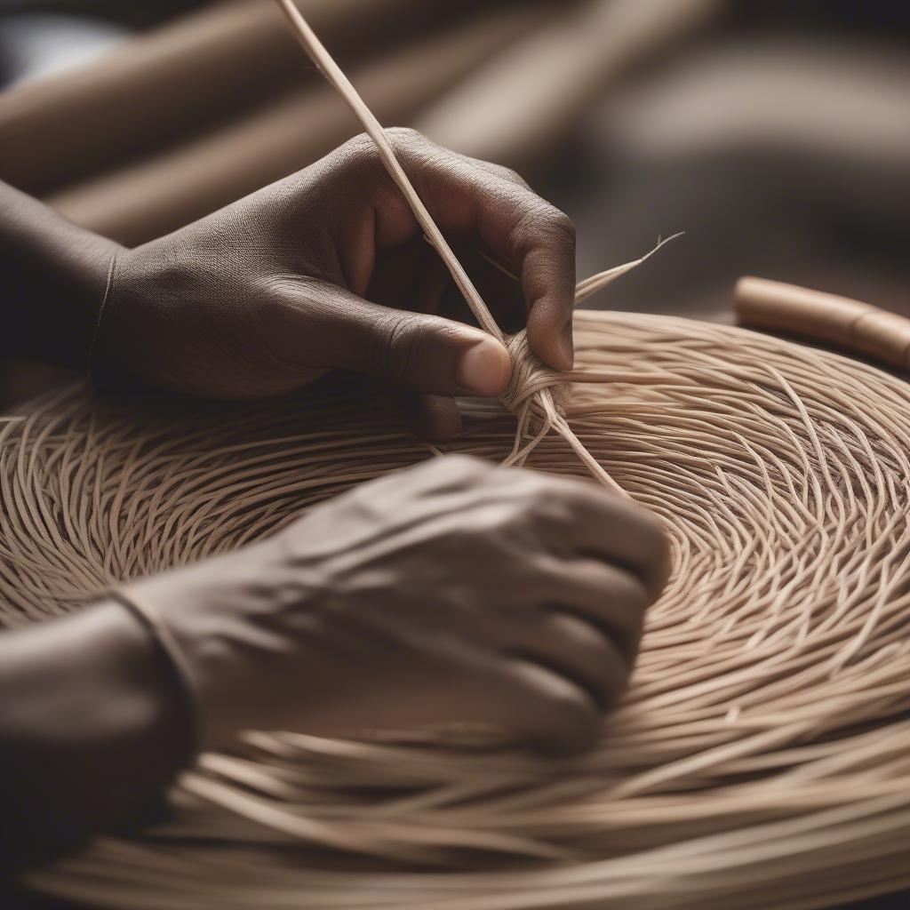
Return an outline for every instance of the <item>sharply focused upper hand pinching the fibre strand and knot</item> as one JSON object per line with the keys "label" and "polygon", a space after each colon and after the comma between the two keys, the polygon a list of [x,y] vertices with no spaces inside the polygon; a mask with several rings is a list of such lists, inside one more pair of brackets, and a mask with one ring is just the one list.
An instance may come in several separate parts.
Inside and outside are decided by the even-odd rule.
{"label": "sharply focused upper hand pinching the fibre strand and knot", "polygon": [[[412,130],[389,136],[494,314],[511,329],[527,317],[534,353],[569,368],[569,218],[503,167]],[[214,215],[123,251],[97,365],[218,398],[295,389],[336,367],[412,392],[495,395],[509,378],[508,354],[463,324],[470,311],[453,287],[373,143],[359,136]],[[433,405],[435,434],[457,430],[454,406]]]}

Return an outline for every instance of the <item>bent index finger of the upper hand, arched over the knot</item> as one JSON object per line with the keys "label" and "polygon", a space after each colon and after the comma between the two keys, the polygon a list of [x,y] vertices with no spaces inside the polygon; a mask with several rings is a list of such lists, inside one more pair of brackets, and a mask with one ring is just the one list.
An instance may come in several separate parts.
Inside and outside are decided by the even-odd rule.
{"label": "bent index finger of the upper hand, arched over the knot", "polygon": [[[456,155],[413,130],[389,138],[430,215],[443,232],[480,241],[520,278],[531,350],[554,369],[570,369],[575,232],[569,217],[506,168]],[[368,147],[361,154],[375,157]],[[378,167],[374,165],[373,167]],[[416,230],[389,178],[377,206],[377,242],[392,245]]]}

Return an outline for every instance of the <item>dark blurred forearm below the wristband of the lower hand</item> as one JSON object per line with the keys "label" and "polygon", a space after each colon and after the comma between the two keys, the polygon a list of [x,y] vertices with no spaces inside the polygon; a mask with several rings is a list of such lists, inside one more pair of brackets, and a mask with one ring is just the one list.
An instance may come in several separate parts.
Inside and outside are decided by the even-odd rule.
{"label": "dark blurred forearm below the wristband of the lower hand", "polygon": [[15,848],[0,866],[145,808],[192,758],[180,694],[115,602],[0,636],[0,689],[0,840]]}

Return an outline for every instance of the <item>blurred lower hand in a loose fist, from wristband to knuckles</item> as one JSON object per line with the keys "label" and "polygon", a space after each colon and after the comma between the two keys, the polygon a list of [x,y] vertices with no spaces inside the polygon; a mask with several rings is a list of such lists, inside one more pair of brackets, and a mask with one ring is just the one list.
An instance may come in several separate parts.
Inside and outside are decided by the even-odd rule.
{"label": "blurred lower hand in a loose fist, from wristband to knuckles", "polygon": [[208,746],[479,722],[574,751],[625,688],[666,566],[627,501],[447,457],[127,591],[186,656]]}

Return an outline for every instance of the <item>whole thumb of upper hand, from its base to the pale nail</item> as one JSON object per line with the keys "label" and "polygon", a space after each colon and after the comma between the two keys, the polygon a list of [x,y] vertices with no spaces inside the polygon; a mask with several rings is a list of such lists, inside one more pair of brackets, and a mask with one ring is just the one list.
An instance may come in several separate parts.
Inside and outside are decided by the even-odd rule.
{"label": "whole thumb of upper hand, from its base to the pale nail", "polygon": [[509,381],[509,352],[480,329],[383,307],[319,279],[288,279],[273,293],[266,330],[289,363],[351,369],[433,395],[493,396]]}

